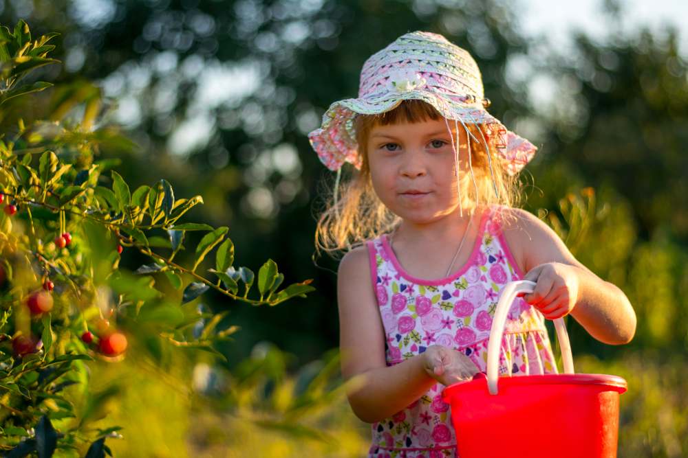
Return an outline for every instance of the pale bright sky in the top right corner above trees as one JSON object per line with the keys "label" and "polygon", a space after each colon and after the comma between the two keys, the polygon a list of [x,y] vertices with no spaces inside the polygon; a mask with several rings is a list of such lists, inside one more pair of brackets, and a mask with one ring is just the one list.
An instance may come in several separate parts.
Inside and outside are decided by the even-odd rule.
{"label": "pale bright sky in the top right corner above trees", "polygon": [[[560,49],[571,43],[572,32],[581,30],[605,40],[610,30],[603,0],[519,0],[526,36],[546,36]],[[674,25],[679,31],[680,51],[688,57],[688,0],[619,0],[624,31],[650,27],[661,30]]]}

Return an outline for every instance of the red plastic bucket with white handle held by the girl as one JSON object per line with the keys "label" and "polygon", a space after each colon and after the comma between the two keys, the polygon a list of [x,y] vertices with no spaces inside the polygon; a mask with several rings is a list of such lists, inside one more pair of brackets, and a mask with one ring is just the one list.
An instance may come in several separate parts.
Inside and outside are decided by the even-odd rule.
{"label": "red plastic bucket with white handle held by the girl", "polygon": [[555,320],[566,374],[499,377],[499,345],[506,313],[518,295],[533,291],[522,280],[504,287],[495,309],[487,376],[442,391],[460,458],[614,458],[619,433],[621,377],[574,374],[563,319]]}

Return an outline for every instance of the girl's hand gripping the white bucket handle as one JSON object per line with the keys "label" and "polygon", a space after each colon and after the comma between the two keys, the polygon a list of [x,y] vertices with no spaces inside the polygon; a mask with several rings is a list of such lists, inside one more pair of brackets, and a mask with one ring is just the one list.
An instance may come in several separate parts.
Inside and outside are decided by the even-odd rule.
{"label": "girl's hand gripping the white bucket handle", "polygon": [[577,269],[560,262],[548,262],[530,269],[524,280],[537,283],[533,293],[523,297],[547,319],[561,318],[573,310],[578,300]]}

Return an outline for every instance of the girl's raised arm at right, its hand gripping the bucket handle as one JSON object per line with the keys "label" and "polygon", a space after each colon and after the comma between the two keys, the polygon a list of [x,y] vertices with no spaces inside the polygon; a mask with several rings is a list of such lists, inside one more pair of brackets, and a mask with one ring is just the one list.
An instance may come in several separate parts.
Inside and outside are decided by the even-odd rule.
{"label": "girl's raised arm at right, its hand gripping the bucket handle", "polygon": [[578,262],[557,234],[527,211],[513,209],[503,220],[504,236],[526,272],[524,279],[537,283],[533,293],[524,296],[528,304],[548,319],[572,314],[604,343],[617,345],[633,338],[636,314],[619,288]]}

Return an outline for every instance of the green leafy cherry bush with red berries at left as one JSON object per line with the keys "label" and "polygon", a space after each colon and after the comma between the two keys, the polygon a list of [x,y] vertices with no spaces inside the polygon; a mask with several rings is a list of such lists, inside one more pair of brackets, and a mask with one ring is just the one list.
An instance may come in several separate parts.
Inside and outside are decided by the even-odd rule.
{"label": "green leafy cherry bush with red berries at left", "polygon": [[[44,58],[52,49],[43,47],[50,36],[31,41],[23,21],[13,35],[4,27],[0,34],[0,80],[6,100],[19,95],[10,91],[14,82],[54,60]],[[122,396],[122,389],[112,385],[97,393],[90,391],[86,362],[114,363],[131,352],[133,358],[142,352],[146,355],[142,360],[151,358],[164,366],[165,354],[181,348],[204,350],[224,359],[213,345],[231,340],[230,334],[238,330],[219,327],[226,312],[180,307],[208,289],[255,306],[275,305],[291,297],[294,288],[301,293],[313,290],[304,282],[271,297],[273,288],[264,297],[267,282],[272,279],[272,288],[275,277],[281,275],[272,261],[266,264],[268,277],[261,277],[256,298],[249,297],[252,273],[248,268],[241,268],[246,286],[243,296],[237,295],[231,279],[222,287],[222,281],[195,273],[218,244],[222,245],[215,266],[230,270],[234,245],[226,238],[228,228],[193,223],[175,227],[179,218],[203,201],[200,196],[175,201],[167,181],[139,187],[131,194],[118,172],[112,170],[111,180],[107,179],[103,172],[114,164],[93,163],[94,150],[111,140],[115,146],[127,142],[92,127],[97,113],[89,106],[97,106],[94,100],[92,95],[72,99],[69,103],[86,105],[83,116],[79,122],[65,122],[61,133],[51,139],[28,140],[42,122],[27,128],[19,120],[14,133],[10,126],[0,126],[6,133],[0,141],[0,190],[7,205],[19,207],[13,216],[0,216],[0,448],[8,450],[8,457],[37,453],[47,458],[57,449],[63,456],[80,456],[89,442],[92,445],[85,456],[109,453],[105,437],[116,428],[96,430],[92,424],[107,415],[107,404]],[[20,153],[15,148],[19,144],[32,144],[32,148]],[[98,185],[108,181],[111,190]],[[184,249],[186,230],[209,231],[197,244],[193,268],[174,261]],[[67,232],[71,238],[64,247]],[[120,270],[118,245],[138,251],[151,264],[141,266],[134,275]],[[173,304],[154,287],[161,273],[176,289],[182,288],[182,277],[193,279],[184,289],[182,304]],[[48,288],[48,282],[54,292],[39,293]],[[96,334],[93,343],[80,339],[87,331]],[[106,345],[114,336],[125,339],[124,347]],[[74,395],[78,394],[86,395],[84,405],[76,404]]]}

